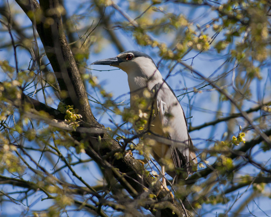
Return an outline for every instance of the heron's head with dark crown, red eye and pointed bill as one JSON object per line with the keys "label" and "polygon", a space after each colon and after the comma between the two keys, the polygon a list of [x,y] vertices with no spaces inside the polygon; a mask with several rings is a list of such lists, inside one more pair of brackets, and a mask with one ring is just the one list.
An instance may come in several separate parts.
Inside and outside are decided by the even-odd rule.
{"label": "heron's head with dark crown, red eye and pointed bill", "polygon": [[[125,51],[113,58],[101,59],[93,65],[111,65],[122,69],[128,75],[150,77],[155,74],[157,67],[152,58],[140,51]],[[160,74],[160,73],[159,73]]]}

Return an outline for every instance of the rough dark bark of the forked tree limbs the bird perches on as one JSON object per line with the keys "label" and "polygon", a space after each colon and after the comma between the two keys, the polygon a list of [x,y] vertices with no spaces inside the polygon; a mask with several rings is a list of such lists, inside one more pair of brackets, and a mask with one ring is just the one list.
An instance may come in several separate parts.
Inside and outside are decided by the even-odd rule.
{"label": "rough dark bark of the forked tree limbs the bird perches on", "polygon": [[[59,6],[58,1],[41,0],[40,5],[36,0],[16,0],[16,2],[28,16],[30,14],[28,13],[29,11],[34,12],[31,14],[42,14],[42,18],[39,20],[35,19],[35,16],[29,16],[29,18],[36,27],[43,43],[46,55],[57,77],[62,96],[66,95],[63,97],[66,104],[74,105],[75,108],[79,109],[79,114],[83,116],[85,123],[82,124],[83,127],[104,127],[95,120],[91,112],[82,79],[64,34],[61,14],[58,10],[55,10]],[[54,22],[48,25],[48,19],[54,20]],[[53,108],[48,108],[45,104],[42,105],[42,103],[38,103],[31,98],[24,98],[24,100],[30,101],[37,110],[45,110],[53,116],[58,114]],[[59,119],[59,116],[55,118]],[[142,195],[146,194],[145,188],[150,189],[154,194],[160,191],[160,182],[158,181],[152,186],[154,178],[142,168],[141,164],[139,164],[134,157],[128,155],[122,159],[114,158],[114,153],[123,150],[123,147],[108,134],[92,134],[89,136],[89,134],[80,134],[79,132],[80,127],[78,128],[78,132],[74,133],[73,137],[76,138],[76,140],[89,141],[89,147],[87,147],[86,153],[92,157],[98,165],[109,168],[115,178],[117,178],[132,197],[140,200]],[[102,143],[98,141],[98,136],[101,137]],[[181,204],[165,199],[168,198],[168,192],[165,190],[161,190],[155,200],[149,199],[147,194],[145,197],[147,200],[142,203],[142,206],[149,209],[154,215],[186,215]],[[186,213],[188,216],[191,216],[188,211],[186,211]]]}

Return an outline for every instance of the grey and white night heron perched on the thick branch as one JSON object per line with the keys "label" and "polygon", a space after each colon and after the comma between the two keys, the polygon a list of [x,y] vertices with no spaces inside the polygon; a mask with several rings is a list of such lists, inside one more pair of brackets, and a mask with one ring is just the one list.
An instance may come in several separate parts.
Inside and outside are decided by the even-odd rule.
{"label": "grey and white night heron perched on the thick branch", "polygon": [[[130,50],[113,58],[95,61],[92,65],[110,65],[125,71],[130,88],[130,108],[141,113],[141,117],[142,112],[151,113],[145,140],[152,138],[155,141],[151,154],[161,166],[161,188],[164,187],[169,191],[165,179],[166,163],[163,159],[173,161],[175,168],[166,171],[173,180],[187,179],[188,175],[194,172],[192,165],[196,165],[198,161],[188,133],[185,113],[153,59],[144,52]],[[142,98],[151,102],[149,103],[151,105],[146,106],[145,111],[142,111],[142,107],[138,107],[138,99]],[[138,129],[135,130],[139,132]]]}

